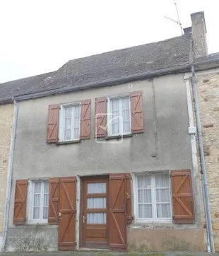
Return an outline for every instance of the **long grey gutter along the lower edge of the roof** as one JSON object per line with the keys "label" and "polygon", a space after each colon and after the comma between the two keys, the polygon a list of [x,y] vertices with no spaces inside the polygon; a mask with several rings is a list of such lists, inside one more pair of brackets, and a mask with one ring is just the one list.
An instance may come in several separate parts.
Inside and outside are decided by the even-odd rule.
{"label": "long grey gutter along the lower edge of the roof", "polygon": [[[18,95],[15,96],[14,98],[16,100],[29,100],[32,98],[42,98],[45,96],[49,95],[56,95],[56,94],[61,94],[61,93],[70,93],[73,91],[81,91],[85,89],[90,89],[90,88],[100,88],[104,86],[114,86],[119,83],[128,83],[131,81],[139,81],[143,79],[148,79],[148,78],[153,78],[156,76],[164,76],[167,74],[177,74],[177,73],[184,73],[187,71],[191,71],[191,66],[198,66],[198,65],[203,65],[203,64],[218,64],[219,66],[219,58],[218,59],[207,59],[202,62],[194,62],[193,64],[186,64],[184,66],[177,66],[173,68],[165,68],[165,69],[160,69],[156,71],[149,71],[149,72],[143,72],[141,74],[134,74],[130,76],[122,76],[119,78],[114,78],[114,79],[107,79],[107,80],[102,80],[102,81],[95,81],[95,82],[90,82],[90,83],[85,83],[85,84],[76,84],[76,85],[69,85],[66,86],[65,88],[59,88],[59,89],[54,89],[54,90],[49,90],[49,91],[41,91],[39,93],[31,93],[31,94],[23,94],[23,95]],[[213,67],[210,67],[211,69]],[[197,70],[203,70],[206,69],[203,67],[199,67]],[[6,99],[1,99],[0,98],[0,105],[6,104],[11,102],[11,98],[6,98]]]}

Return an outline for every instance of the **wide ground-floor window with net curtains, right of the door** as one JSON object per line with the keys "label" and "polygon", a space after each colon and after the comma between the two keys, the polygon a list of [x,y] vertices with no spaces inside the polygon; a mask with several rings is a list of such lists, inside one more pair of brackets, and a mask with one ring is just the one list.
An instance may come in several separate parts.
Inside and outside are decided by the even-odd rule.
{"label": "wide ground-floor window with net curtains, right of the door", "polygon": [[168,173],[136,176],[136,219],[137,221],[172,219]]}

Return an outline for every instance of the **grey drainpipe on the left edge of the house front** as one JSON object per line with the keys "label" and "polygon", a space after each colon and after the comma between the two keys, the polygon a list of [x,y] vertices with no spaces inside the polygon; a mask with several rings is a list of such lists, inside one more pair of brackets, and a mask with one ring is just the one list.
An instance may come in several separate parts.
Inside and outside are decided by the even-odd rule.
{"label": "grey drainpipe on the left edge of the house front", "polygon": [[8,160],[8,185],[6,188],[6,211],[5,211],[5,220],[4,220],[4,234],[3,234],[3,243],[1,251],[5,251],[6,247],[6,236],[8,232],[8,216],[9,216],[9,206],[10,206],[10,199],[11,199],[11,183],[12,183],[12,169],[13,169],[13,153],[14,153],[14,144],[16,139],[16,127],[17,127],[17,120],[18,120],[18,103],[16,100],[13,100],[13,128],[12,128],[12,135],[11,135],[11,146],[10,146],[10,154]]}

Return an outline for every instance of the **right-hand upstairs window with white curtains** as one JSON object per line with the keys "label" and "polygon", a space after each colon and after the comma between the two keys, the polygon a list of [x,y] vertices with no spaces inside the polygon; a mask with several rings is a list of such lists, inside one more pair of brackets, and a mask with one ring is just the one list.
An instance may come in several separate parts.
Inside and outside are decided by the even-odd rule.
{"label": "right-hand upstairs window with white curtains", "polygon": [[131,133],[130,97],[109,98],[108,135]]}

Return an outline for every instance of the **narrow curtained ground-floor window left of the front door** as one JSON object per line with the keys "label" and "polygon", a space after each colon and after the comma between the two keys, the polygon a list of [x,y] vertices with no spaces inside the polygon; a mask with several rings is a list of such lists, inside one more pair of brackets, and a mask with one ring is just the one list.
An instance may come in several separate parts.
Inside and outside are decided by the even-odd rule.
{"label": "narrow curtained ground-floor window left of the front door", "polygon": [[32,181],[30,190],[31,200],[31,218],[30,221],[47,222],[49,206],[49,181]]}

